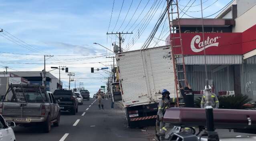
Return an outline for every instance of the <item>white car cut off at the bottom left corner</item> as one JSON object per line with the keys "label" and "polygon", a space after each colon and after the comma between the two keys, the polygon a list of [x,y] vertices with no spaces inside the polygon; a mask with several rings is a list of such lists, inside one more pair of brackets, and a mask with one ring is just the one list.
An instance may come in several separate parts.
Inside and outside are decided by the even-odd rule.
{"label": "white car cut off at the bottom left corner", "polygon": [[13,121],[5,121],[4,117],[0,115],[0,140],[1,141],[16,141],[12,127],[15,127]]}

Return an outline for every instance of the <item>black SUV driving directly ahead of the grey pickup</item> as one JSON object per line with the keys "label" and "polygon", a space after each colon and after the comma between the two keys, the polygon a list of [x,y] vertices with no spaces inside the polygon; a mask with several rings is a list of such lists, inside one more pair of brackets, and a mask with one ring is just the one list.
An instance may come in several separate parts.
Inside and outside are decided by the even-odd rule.
{"label": "black SUV driving directly ahead of the grey pickup", "polygon": [[60,100],[60,110],[70,111],[72,115],[78,112],[78,100],[74,91],[69,89],[56,89],[53,92],[54,98]]}

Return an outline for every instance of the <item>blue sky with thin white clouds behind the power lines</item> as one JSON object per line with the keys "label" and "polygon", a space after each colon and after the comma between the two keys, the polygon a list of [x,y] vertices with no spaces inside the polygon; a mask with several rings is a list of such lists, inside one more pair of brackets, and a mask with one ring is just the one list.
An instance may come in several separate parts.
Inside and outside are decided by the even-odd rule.
{"label": "blue sky with thin white clouds behind the power lines", "polygon": [[[213,4],[212,6],[204,10],[204,16],[208,16],[217,12],[228,2],[230,2],[230,0],[203,1],[205,2],[203,4],[204,8],[209,6],[210,4]],[[123,38],[125,38],[125,41],[122,46],[124,49],[126,49],[129,42],[130,50],[136,50],[140,49],[143,42],[145,42],[145,39],[157,22],[157,19],[161,14],[162,8],[164,8],[165,6],[165,0],[141,0],[140,4],[139,2],[140,0],[124,0],[124,2],[123,0],[115,0],[113,14],[111,18],[113,0],[1,0],[0,28],[14,35],[16,38],[26,42],[26,44],[22,43],[25,46],[23,46],[22,44],[14,44],[6,38],[10,36],[13,39],[19,41],[20,43],[21,41],[14,38],[7,32],[2,32],[0,33],[0,35],[2,35],[0,36],[0,50],[1,52],[22,54],[52,54],[54,55],[54,57],[46,61],[46,63],[51,63],[46,65],[46,71],[50,70],[50,66],[65,65],[69,67],[69,70],[71,72],[76,73],[75,78],[86,78],[80,79],[80,81],[85,83],[85,88],[89,89],[89,91],[92,91],[94,93],[95,91],[97,91],[100,85],[104,85],[104,81],[106,80],[103,77],[107,77],[107,74],[103,71],[92,74],[90,73],[90,68],[105,67],[97,62],[103,62],[103,64],[105,65],[112,64],[112,62],[111,59],[107,59],[105,58],[105,56],[100,55],[111,54],[111,52],[108,52],[101,46],[93,44],[93,42],[102,44],[103,46],[106,46],[107,48],[112,50],[111,43],[116,41],[116,37],[106,35],[109,27],[110,18],[111,24],[109,32],[117,32],[117,30],[121,32],[133,32],[132,35],[123,36]],[[155,5],[155,7],[153,7],[155,8],[156,12],[154,16],[151,16],[152,19],[148,20],[150,21],[148,22],[148,24],[143,24],[143,17],[146,15],[147,12],[149,12],[154,2],[156,2],[157,4]],[[180,8],[183,9],[187,2],[189,2],[189,0],[181,0],[180,4],[183,6],[180,6]],[[123,8],[119,16],[122,3]],[[200,12],[191,12],[200,10],[200,6],[195,6],[199,3],[200,0],[190,0],[188,6],[192,4],[193,7],[187,10],[189,11],[187,12],[187,14],[195,17],[200,17]],[[130,5],[131,8],[129,10]],[[132,18],[132,15],[137,7],[137,12]],[[143,11],[144,7],[145,10]],[[128,10],[129,12],[127,14]],[[119,19],[117,21],[118,16]],[[214,16],[212,16],[212,18],[214,18]],[[184,15],[182,18],[188,18],[188,16]],[[131,22],[127,25],[130,19]],[[136,21],[136,19],[138,20]],[[114,29],[116,23],[117,25]],[[123,25],[121,26],[122,23]],[[124,30],[125,26],[127,26],[127,28]],[[161,29],[165,31],[164,33],[167,33],[168,31],[165,30],[165,28],[167,28],[167,22],[160,26],[159,31],[157,32],[155,37],[159,37],[164,40],[168,34],[161,34],[161,36],[159,36],[159,34],[161,32]],[[138,30],[141,30],[139,39],[137,39],[136,36]],[[6,38],[4,38],[3,36]],[[132,44],[132,38],[134,38],[134,44]],[[154,45],[161,46],[165,44],[163,41],[158,42],[158,44],[155,44],[155,42],[158,42],[157,39],[154,39],[154,44],[152,44],[151,47],[153,47]],[[33,51],[31,49],[28,49],[28,47],[32,48]],[[18,71],[41,71],[43,69],[42,56],[17,54],[15,55],[6,53],[0,54],[0,65],[2,66],[9,66],[10,68]],[[95,58],[95,56],[102,57]],[[88,64],[89,62],[94,63]],[[3,70],[4,68],[0,68],[0,71]],[[58,70],[52,71],[52,74],[58,77]],[[65,85],[68,85],[68,79],[66,79],[67,74],[65,74],[64,71],[62,72],[61,77],[64,78],[62,80]],[[89,77],[92,78],[87,79]],[[74,87],[74,82],[71,83],[71,87]]]}

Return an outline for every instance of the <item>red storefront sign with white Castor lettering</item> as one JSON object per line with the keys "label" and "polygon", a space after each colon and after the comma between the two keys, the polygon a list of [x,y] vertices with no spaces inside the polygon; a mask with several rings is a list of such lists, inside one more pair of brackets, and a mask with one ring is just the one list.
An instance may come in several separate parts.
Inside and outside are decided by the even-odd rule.
{"label": "red storefront sign with white Castor lettering", "polygon": [[[174,34],[174,37],[179,37],[179,34]],[[205,33],[204,40],[202,33],[183,33],[182,45],[184,55],[206,55],[218,54],[242,54],[242,33]],[[167,45],[170,44],[169,36]],[[179,38],[175,38],[173,46],[179,46]],[[205,46],[204,46],[205,45]],[[181,54],[181,48],[174,48],[175,54]]]}

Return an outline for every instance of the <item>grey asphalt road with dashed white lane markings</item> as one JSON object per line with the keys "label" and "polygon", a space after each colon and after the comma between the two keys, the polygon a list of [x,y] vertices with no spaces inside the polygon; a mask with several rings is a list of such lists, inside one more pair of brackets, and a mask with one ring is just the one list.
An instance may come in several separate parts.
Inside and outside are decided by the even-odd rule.
{"label": "grey asphalt road with dashed white lane markings", "polygon": [[[95,101],[95,102],[94,102]],[[111,100],[104,99],[105,110],[99,110],[97,101],[90,99],[79,105],[76,115],[62,112],[60,126],[50,133],[39,127],[15,127],[17,141],[149,141],[152,135],[141,129],[129,129],[125,113]]]}

